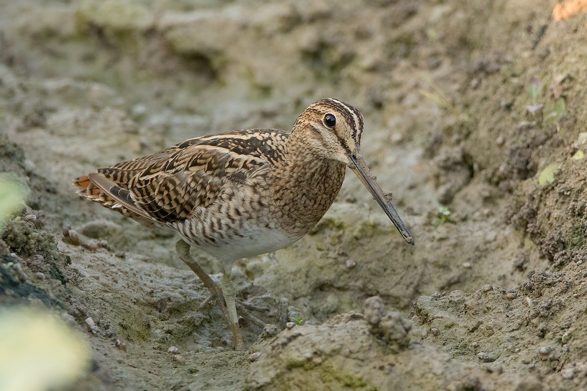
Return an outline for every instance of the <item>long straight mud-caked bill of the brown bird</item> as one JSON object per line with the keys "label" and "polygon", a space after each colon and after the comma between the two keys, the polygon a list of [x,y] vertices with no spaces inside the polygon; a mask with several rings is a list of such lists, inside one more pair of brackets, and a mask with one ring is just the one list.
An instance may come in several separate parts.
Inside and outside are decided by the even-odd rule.
{"label": "long straight mud-caked bill of the brown bird", "polygon": [[406,225],[402,219],[400,219],[396,209],[393,208],[392,202],[387,198],[386,195],[384,195],[382,189],[375,180],[375,176],[371,175],[369,167],[367,167],[367,164],[365,163],[359,148],[357,148],[355,154],[350,155],[350,161],[353,163],[353,165],[349,166],[350,169],[355,172],[355,175],[359,177],[361,182],[363,182],[363,185],[369,189],[373,195],[373,198],[375,198],[377,203],[379,203],[379,206],[381,206],[381,208],[384,210],[387,217],[392,220],[393,225],[396,226],[399,233],[402,234],[404,240],[413,246],[414,239],[411,237],[410,231],[407,230]]}

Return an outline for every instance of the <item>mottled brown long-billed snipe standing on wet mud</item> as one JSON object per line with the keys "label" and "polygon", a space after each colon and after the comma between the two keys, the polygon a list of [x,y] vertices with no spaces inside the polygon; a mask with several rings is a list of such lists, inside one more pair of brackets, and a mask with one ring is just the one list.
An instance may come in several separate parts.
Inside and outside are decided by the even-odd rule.
{"label": "mottled brown long-billed snipe standing on wet mud", "polygon": [[[220,260],[228,317],[241,348],[232,264],[281,249],[308,233],[335,200],[346,165],[413,244],[361,157],[362,132],[363,117],[356,108],[324,99],[299,115],[292,132],[254,129],[192,138],[74,183],[80,195],[140,222],[168,227]],[[194,262],[178,251],[188,264]]]}

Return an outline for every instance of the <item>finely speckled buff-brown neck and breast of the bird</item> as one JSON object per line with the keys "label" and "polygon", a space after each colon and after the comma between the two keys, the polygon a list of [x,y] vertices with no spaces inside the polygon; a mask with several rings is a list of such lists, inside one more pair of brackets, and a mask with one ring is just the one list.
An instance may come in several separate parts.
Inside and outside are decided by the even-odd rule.
{"label": "finely speckled buff-brown neck and breast of the bird", "polygon": [[293,132],[284,158],[272,173],[272,206],[282,216],[282,230],[299,237],[318,223],[334,202],[345,179],[346,165],[321,158]]}

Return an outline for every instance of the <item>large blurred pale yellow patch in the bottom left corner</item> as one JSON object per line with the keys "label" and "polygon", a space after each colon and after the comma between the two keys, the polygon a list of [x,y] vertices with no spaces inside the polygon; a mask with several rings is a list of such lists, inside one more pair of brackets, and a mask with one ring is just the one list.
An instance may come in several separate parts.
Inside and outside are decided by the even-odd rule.
{"label": "large blurred pale yellow patch in the bottom left corner", "polygon": [[86,342],[55,315],[39,308],[0,310],[0,390],[57,390],[88,365]]}

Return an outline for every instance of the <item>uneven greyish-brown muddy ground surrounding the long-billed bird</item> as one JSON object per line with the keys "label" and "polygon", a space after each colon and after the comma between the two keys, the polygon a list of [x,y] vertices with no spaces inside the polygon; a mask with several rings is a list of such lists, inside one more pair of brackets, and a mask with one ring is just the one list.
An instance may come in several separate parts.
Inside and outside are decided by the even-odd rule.
{"label": "uneven greyish-brown muddy ground surrounding the long-billed bird", "polygon": [[[70,389],[587,389],[587,14],[338,3],[0,2],[0,171],[30,189],[0,240],[0,302],[85,332],[92,366]],[[289,129],[322,97],[365,115],[362,151],[416,246],[348,175],[311,234],[235,266],[275,327],[245,321],[234,352],[174,237],[72,178],[196,135]]]}

